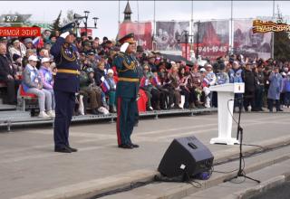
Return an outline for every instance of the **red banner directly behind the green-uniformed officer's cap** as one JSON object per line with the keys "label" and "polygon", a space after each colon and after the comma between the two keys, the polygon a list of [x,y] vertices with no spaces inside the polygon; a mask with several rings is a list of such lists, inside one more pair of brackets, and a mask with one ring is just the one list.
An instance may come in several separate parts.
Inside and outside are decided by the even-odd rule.
{"label": "red banner directly behind the green-uniformed officer's cap", "polygon": [[152,49],[152,26],[150,22],[145,23],[122,23],[120,24],[118,38],[128,33],[134,33],[134,39],[145,51]]}

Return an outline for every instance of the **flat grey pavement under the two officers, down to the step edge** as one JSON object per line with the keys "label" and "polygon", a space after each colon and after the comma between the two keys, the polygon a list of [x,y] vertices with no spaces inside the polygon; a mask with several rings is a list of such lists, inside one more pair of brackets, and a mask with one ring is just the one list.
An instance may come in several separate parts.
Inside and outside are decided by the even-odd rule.
{"label": "flat grey pavement under the two officers, down to the step edge", "polygon": [[[259,145],[289,137],[288,113],[243,113],[244,143]],[[237,115],[235,114],[237,118]],[[160,117],[141,119],[132,141],[136,149],[117,147],[115,124],[74,124],[71,146],[73,154],[53,152],[53,129],[23,128],[0,133],[0,198],[53,193],[68,186],[90,185],[156,171],[170,142],[176,137],[197,137],[216,157],[227,156],[238,146],[210,145],[218,136],[218,115]],[[232,137],[236,137],[233,125]],[[245,147],[247,148],[247,147]],[[108,186],[110,186],[108,180]]]}

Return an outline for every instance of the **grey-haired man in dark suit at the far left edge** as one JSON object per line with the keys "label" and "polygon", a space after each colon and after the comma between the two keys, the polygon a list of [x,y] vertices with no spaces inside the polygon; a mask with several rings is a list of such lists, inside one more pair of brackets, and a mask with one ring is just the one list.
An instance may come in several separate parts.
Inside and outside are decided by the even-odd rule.
{"label": "grey-haired man in dark suit at the far left edge", "polygon": [[0,81],[4,81],[7,85],[7,103],[16,103],[16,90],[20,84],[20,80],[15,75],[15,71],[10,58],[7,56],[7,48],[5,43],[0,43]]}

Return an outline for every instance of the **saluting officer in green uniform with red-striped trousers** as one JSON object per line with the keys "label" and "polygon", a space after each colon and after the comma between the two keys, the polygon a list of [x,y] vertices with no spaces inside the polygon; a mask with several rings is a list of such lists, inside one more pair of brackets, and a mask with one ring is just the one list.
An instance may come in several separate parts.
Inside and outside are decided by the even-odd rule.
{"label": "saluting officer in green uniform with red-striped trousers", "polygon": [[119,40],[121,52],[113,60],[119,76],[116,89],[117,137],[118,146],[121,148],[139,147],[131,142],[131,133],[138,111],[137,96],[140,81],[138,62],[134,56],[136,42],[133,37],[134,34],[130,33]]}

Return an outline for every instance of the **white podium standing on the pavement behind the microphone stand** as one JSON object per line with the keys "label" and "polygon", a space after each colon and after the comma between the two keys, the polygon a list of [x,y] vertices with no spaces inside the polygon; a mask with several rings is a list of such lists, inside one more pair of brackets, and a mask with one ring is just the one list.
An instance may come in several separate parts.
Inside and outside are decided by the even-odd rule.
{"label": "white podium standing on the pavement behind the microphone stand", "polygon": [[[209,87],[218,92],[218,137],[210,139],[210,144],[239,144],[237,138],[231,137],[235,93],[244,93],[244,83],[226,83]],[[227,106],[228,105],[228,106]]]}

